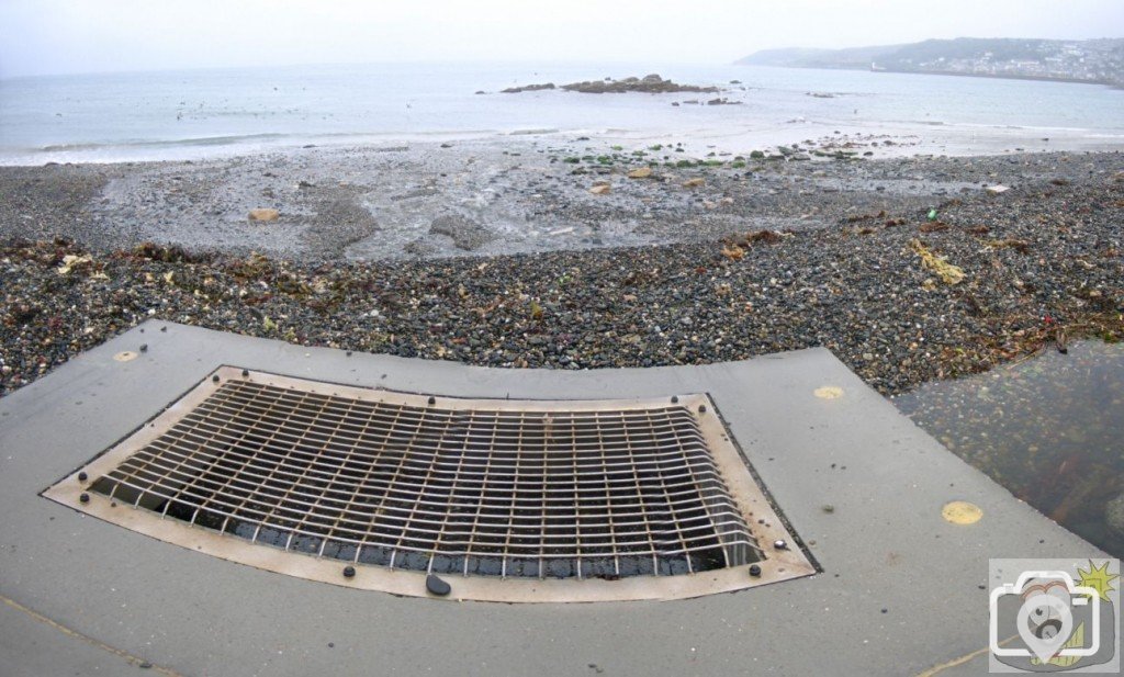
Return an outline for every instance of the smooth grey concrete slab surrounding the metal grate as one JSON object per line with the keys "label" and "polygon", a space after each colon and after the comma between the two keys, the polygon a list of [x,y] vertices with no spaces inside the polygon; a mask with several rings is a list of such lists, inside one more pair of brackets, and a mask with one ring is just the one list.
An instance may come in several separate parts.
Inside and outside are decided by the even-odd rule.
{"label": "smooth grey concrete slab surrounding the metal grate", "polygon": [[[142,344],[136,359],[114,359]],[[708,392],[822,573],[676,602],[404,598],[232,564],[39,495],[220,365],[457,396]],[[815,396],[825,385],[843,396]],[[982,520],[946,522],[952,500]],[[151,321],[0,400],[6,677],[976,675],[987,671],[988,558],[1086,556],[1103,554],[824,349],[701,367],[484,369]]]}

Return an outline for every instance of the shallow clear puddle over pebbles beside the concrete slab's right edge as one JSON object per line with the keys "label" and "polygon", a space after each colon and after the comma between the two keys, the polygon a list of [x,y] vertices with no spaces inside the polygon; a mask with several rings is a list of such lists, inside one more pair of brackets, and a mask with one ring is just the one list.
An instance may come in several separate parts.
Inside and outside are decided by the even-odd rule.
{"label": "shallow clear puddle over pebbles beside the concrete slab's right edge", "polygon": [[1124,557],[1124,344],[1075,342],[895,404],[1015,496]]}

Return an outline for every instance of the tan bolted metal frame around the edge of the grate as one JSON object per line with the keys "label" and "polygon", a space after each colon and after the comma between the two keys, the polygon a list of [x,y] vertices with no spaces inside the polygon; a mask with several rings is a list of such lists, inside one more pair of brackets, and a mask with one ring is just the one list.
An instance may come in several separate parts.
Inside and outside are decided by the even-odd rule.
{"label": "tan bolted metal frame around the edge of the grate", "polygon": [[[532,423],[540,421],[540,439],[550,439],[550,430],[552,428],[564,428],[566,417],[570,417],[569,420],[573,421],[577,414],[596,417],[599,414],[623,412],[622,415],[642,415],[644,412],[674,410],[679,412],[677,415],[688,415],[691,418],[692,426],[701,436],[701,443],[709,456],[709,460],[713,461],[713,468],[717,470],[717,481],[719,484],[725,484],[724,488],[728,492],[728,498],[732,500],[732,505],[724,505],[722,496],[716,497],[713,493],[704,495],[704,492],[699,490],[699,497],[706,504],[707,512],[728,511],[732,507],[736,521],[745,528],[745,531],[752,539],[755,539],[755,543],[761,543],[764,547],[761,550],[752,540],[745,543],[738,540],[736,532],[718,529],[715,536],[720,541],[722,551],[726,559],[724,568],[696,571],[690,564],[690,552],[685,552],[689,569],[688,573],[629,577],[618,577],[618,575],[613,575],[611,571],[609,575],[605,575],[606,571],[604,569],[599,574],[583,575],[583,565],[580,557],[577,559],[577,575],[566,578],[513,576],[506,569],[500,571],[501,576],[499,577],[468,575],[469,557],[465,556],[465,570],[455,573],[439,571],[439,574],[446,575],[447,579],[453,583],[453,596],[455,598],[498,602],[673,600],[742,589],[815,573],[815,567],[798,547],[799,541],[774,510],[765,492],[759,486],[747,461],[743,459],[722,422],[714,402],[706,394],[679,395],[670,400],[669,397],[554,401],[463,399],[346,386],[224,366],[133,434],[49,487],[44,492],[44,495],[58,503],[75,507],[87,514],[124,528],[230,561],[350,587],[379,589],[400,595],[425,595],[426,571],[393,568],[392,566],[363,566],[365,562],[359,560],[359,549],[355,551],[355,561],[360,565],[355,567],[356,575],[344,578],[341,575],[341,569],[347,561],[342,561],[341,558],[335,557],[324,557],[323,546],[318,552],[300,552],[291,547],[293,537],[290,536],[283,549],[279,547],[264,547],[262,543],[232,537],[211,528],[169,518],[166,514],[146,510],[138,506],[138,504],[129,506],[111,500],[106,494],[90,491],[94,483],[118,472],[130,459],[134,459],[138,454],[143,454],[146,448],[160,442],[161,439],[165,439],[170,431],[176,429],[178,423],[192,417],[201,406],[206,406],[208,402],[214,402],[212,396],[219,394],[220,388],[232,387],[230,384],[241,384],[257,388],[280,388],[285,392],[317,396],[321,400],[324,397],[348,399],[354,402],[372,405],[393,405],[414,410],[450,412],[448,415],[451,417],[471,417],[474,412],[496,412],[499,415],[509,414],[514,417],[518,414],[526,421],[529,414]],[[669,404],[669,401],[673,404]],[[543,430],[544,428],[545,430]],[[520,434],[526,430],[528,428],[520,428]],[[577,439],[577,432],[573,436]],[[417,439],[411,441],[417,441]],[[435,454],[434,458],[436,456]],[[577,461],[574,463],[577,464]],[[515,472],[518,474],[518,466],[516,466]],[[305,468],[305,474],[307,475],[307,473],[308,467]],[[457,468],[457,473],[460,473],[460,468]],[[577,468],[574,473],[577,476]],[[605,487],[607,492],[607,482],[605,483]],[[573,492],[578,492],[577,484],[573,487]],[[545,501],[545,486],[543,495]],[[83,496],[85,497],[84,500]],[[143,497],[144,495],[142,494],[137,498],[137,503]],[[165,504],[163,509],[165,513],[170,505],[172,505],[170,502]],[[152,507],[152,505],[149,504],[147,507]],[[478,511],[478,522],[481,512],[482,510]],[[511,502],[511,513],[515,513],[514,500]],[[609,513],[611,518],[611,507],[609,509]],[[411,513],[410,518],[413,516]],[[574,516],[579,518],[580,515],[575,514]],[[677,527],[677,529],[679,528]],[[543,531],[543,538],[545,538],[545,528]],[[255,539],[256,536],[255,532]],[[678,536],[682,541],[682,532]],[[611,540],[615,542],[615,537]],[[778,540],[786,541],[789,543],[789,547],[786,549],[773,548],[771,543]],[[510,545],[510,534],[508,534],[507,541]],[[324,542],[327,542],[327,540]],[[275,545],[280,546],[280,543]],[[689,549],[689,543],[682,541],[682,545]],[[409,551],[409,548],[405,551]],[[753,559],[751,557],[753,552],[756,552],[760,559]],[[573,556],[559,555],[559,557],[572,558]],[[429,567],[432,568],[434,560],[430,559],[429,561]],[[746,567],[741,566],[750,561],[754,561],[760,567],[760,576],[749,576]],[[391,556],[390,564],[393,565],[393,562],[395,558]],[[506,567],[506,558],[504,562]],[[653,555],[653,573],[659,573],[658,567],[659,565]],[[542,571],[542,569],[540,570]]]}

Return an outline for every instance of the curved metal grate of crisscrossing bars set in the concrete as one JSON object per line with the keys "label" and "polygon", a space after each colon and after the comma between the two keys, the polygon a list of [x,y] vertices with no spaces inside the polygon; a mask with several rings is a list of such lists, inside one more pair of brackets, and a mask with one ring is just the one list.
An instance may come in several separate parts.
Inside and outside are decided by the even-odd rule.
{"label": "curved metal grate of crisscrossing bars set in the concrete", "polygon": [[[312,565],[275,565],[261,551],[542,586],[713,576],[767,564],[753,531],[788,536],[746,490],[756,487],[706,395],[438,400],[224,367],[76,479],[81,496],[67,481],[47,495],[298,575]],[[160,527],[176,523],[187,531]],[[191,536],[200,532],[214,536]],[[246,551],[232,554],[233,542]],[[810,573],[786,574],[798,565],[786,557],[768,564],[780,565],[770,579]],[[635,596],[647,595],[620,598]],[[478,598],[489,597],[504,595]]]}

